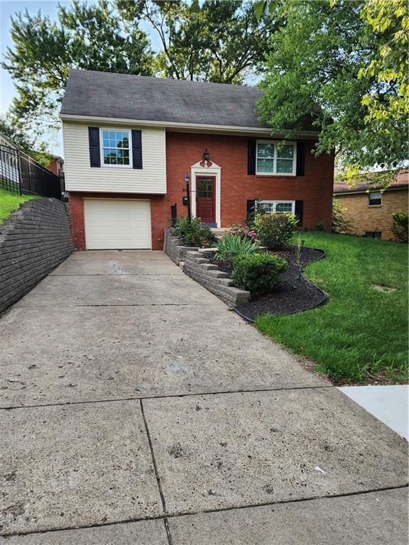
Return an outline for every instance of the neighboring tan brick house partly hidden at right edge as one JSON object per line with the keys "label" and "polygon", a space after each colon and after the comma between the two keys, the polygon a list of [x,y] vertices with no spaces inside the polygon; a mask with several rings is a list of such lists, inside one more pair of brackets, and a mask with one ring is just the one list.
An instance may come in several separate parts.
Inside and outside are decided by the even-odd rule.
{"label": "neighboring tan brick house partly hidden at right edge", "polygon": [[400,172],[391,185],[369,189],[367,182],[355,187],[334,184],[334,198],[345,207],[344,216],[351,221],[352,233],[359,236],[392,240],[392,214],[403,209],[408,214],[408,172]]}

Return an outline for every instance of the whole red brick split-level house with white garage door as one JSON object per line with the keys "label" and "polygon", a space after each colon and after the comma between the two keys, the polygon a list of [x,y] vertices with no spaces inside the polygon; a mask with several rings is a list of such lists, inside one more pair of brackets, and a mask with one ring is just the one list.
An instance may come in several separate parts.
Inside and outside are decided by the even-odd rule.
{"label": "whole red brick split-level house with white garage door", "polygon": [[72,70],[62,101],[65,183],[78,249],[163,247],[171,206],[212,227],[255,206],[330,229],[334,158],[306,121],[279,145],[255,87]]}

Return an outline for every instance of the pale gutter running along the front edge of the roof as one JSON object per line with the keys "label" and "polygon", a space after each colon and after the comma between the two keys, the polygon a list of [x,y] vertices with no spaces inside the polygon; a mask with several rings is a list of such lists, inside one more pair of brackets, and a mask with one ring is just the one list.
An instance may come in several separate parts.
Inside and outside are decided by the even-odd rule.
{"label": "pale gutter running along the front edge of the roof", "polygon": [[[254,136],[276,136],[285,138],[285,133],[271,133],[270,128],[263,127],[237,127],[230,125],[209,125],[205,123],[179,123],[177,121],[148,121],[146,119],[121,119],[116,117],[97,117],[97,116],[78,116],[74,114],[60,114],[62,121],[72,121],[74,123],[107,123],[133,125],[140,127],[165,128],[170,131],[178,132],[205,132],[205,133],[224,133],[224,134],[253,134]],[[317,131],[298,131],[296,137],[306,139],[315,139],[318,136]]]}

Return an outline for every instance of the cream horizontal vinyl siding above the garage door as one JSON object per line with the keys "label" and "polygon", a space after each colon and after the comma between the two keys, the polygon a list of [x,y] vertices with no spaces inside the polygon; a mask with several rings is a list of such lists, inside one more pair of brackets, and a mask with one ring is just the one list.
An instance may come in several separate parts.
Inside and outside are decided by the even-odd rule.
{"label": "cream horizontal vinyl siding above the garage door", "polygon": [[[62,124],[65,152],[65,188],[68,192],[166,193],[165,128],[141,128],[143,168],[91,167],[89,165],[88,127],[100,126],[113,131],[121,127],[98,123]],[[132,127],[138,129],[138,126]],[[130,130],[124,127],[124,131]],[[100,137],[102,146],[102,138]],[[130,150],[132,153],[132,150]]]}

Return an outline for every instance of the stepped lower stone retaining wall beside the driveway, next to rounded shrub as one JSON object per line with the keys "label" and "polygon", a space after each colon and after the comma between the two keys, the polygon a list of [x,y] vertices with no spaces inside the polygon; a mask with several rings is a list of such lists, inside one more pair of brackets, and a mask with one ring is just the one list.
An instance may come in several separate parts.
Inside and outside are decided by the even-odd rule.
{"label": "stepped lower stone retaining wall beside the driveway, next to rounded shrub", "polygon": [[250,300],[250,292],[232,286],[227,272],[222,272],[217,268],[217,265],[210,263],[210,260],[205,257],[203,252],[188,251],[183,272],[204,286],[209,292],[217,295],[229,307],[236,307],[237,304],[246,303]]}

